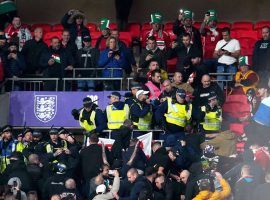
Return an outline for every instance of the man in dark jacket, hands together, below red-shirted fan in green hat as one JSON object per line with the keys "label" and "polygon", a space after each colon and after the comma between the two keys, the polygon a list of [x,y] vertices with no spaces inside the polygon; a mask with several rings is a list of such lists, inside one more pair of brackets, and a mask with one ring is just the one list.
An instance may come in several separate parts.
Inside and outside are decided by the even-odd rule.
{"label": "man in dark jacket, hands together, below red-shirted fan in green hat", "polygon": [[147,38],[147,45],[145,49],[142,50],[142,53],[140,55],[139,68],[148,68],[152,60],[156,60],[160,68],[167,68],[167,60],[165,57],[165,53],[158,48],[155,36],[150,36]]}

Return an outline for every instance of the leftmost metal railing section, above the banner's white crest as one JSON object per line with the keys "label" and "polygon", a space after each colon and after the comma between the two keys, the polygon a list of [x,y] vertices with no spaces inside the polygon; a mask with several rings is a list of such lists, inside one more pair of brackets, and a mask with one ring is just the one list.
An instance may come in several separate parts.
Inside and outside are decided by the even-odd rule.
{"label": "leftmost metal railing section, above the banner's white crest", "polygon": [[41,90],[43,87],[44,81],[55,81],[55,91],[58,91],[58,84],[59,84],[59,78],[7,78],[8,81],[11,81],[11,90],[14,91],[14,86],[16,82],[23,83],[23,88],[26,90],[26,84],[29,84],[29,90],[30,91],[36,91],[38,88],[38,91]]}

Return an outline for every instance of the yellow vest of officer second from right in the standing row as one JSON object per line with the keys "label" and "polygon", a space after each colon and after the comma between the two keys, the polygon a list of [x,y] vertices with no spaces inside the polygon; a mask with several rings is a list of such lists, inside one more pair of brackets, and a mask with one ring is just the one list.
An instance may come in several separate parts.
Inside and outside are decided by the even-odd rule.
{"label": "yellow vest of officer second from right in the standing row", "polygon": [[186,111],[186,105],[179,103],[172,104],[172,98],[167,98],[168,112],[164,115],[166,121],[177,126],[185,127],[187,120],[191,118],[192,106]]}

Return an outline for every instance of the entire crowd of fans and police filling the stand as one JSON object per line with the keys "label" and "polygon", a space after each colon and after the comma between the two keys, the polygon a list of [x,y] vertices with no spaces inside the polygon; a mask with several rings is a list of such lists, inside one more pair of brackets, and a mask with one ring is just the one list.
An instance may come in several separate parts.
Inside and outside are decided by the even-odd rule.
{"label": "entire crowd of fans and police filling the stand", "polygon": [[[163,30],[162,15],[154,13],[152,30],[142,35],[137,65],[131,49],[119,40],[119,31],[109,29],[108,19],[101,20],[102,36],[95,47],[84,20],[81,11],[66,13],[62,40],[52,38],[49,48],[42,41],[42,29],[36,28],[31,39],[19,17],[0,32],[0,70],[5,77],[63,78],[76,67],[100,67],[102,73],[82,71],[78,77],[134,78],[130,92],[108,96],[104,111],[88,97],[82,108],[72,110],[85,130],[84,142],[65,128],[41,133],[25,127],[17,135],[11,126],[2,127],[4,199],[268,199],[269,27],[262,29],[255,45],[252,67],[230,29],[217,28],[214,10],[205,14],[200,30],[192,26],[193,12],[180,10],[174,41]],[[166,72],[170,58],[177,58],[172,80]],[[231,74],[212,77],[211,72]],[[246,113],[241,106],[234,108],[238,116],[223,109],[229,98],[221,80],[232,75],[226,90],[248,105]],[[211,81],[215,78],[217,83]],[[78,81],[77,89],[119,87],[117,81],[98,84]],[[15,86],[21,89],[20,84]],[[54,87],[45,82],[45,90]],[[244,126],[244,133],[232,131],[235,123]],[[110,150],[99,143],[106,129],[115,139]],[[151,129],[161,130],[154,135],[160,141],[153,141],[148,158],[137,137]],[[242,151],[236,149],[239,143],[245,144]]]}

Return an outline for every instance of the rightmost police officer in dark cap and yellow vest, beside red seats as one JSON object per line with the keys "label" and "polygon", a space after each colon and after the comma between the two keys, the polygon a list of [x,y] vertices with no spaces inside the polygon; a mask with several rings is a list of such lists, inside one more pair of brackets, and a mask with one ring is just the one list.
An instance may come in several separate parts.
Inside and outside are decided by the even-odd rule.
{"label": "rightmost police officer in dark cap and yellow vest, beside red seats", "polygon": [[221,128],[222,109],[219,106],[217,95],[210,92],[208,96],[208,104],[201,107],[202,121],[201,128],[206,134],[217,133]]}

